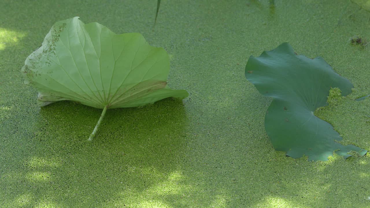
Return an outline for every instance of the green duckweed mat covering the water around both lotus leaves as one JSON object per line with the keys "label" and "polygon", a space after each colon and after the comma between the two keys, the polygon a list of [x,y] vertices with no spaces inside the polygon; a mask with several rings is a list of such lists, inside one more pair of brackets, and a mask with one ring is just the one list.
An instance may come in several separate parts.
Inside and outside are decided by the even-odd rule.
{"label": "green duckweed mat covering the water around both lotus leaves", "polygon": [[[276,151],[272,98],[246,80],[248,58],[289,42],[352,84],[314,112],[370,150],[370,13],[352,1],[2,1],[0,207],[369,207],[370,154],[309,162]],[[167,98],[105,114],[73,101],[40,108],[24,60],[60,20],[141,33],[169,55]],[[354,37],[356,37],[354,39]],[[364,99],[361,99],[366,97]],[[357,101],[357,100],[359,101]]]}

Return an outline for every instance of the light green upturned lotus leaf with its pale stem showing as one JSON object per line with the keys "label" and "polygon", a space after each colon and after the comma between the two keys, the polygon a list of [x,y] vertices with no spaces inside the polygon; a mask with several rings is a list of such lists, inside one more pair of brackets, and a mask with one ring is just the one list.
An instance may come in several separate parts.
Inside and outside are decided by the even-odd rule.
{"label": "light green upturned lotus leaf with its pale stem showing", "polygon": [[22,72],[25,83],[37,88],[41,106],[72,100],[103,109],[89,140],[108,108],[188,96],[168,87],[169,58],[163,48],[149,46],[139,33],[115,34],[79,17],[55,23]]}

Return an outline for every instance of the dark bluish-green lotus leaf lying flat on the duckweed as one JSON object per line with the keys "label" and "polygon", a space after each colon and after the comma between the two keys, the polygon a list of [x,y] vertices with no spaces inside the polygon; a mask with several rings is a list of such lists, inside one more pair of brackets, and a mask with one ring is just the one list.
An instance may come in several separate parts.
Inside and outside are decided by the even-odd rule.
{"label": "dark bluish-green lotus leaf lying flat on the duckweed", "polygon": [[309,161],[328,160],[333,151],[344,158],[351,156],[351,151],[366,154],[359,147],[336,142],[342,140],[338,132],[313,114],[327,105],[330,88],[339,88],[345,96],[353,87],[323,58],[296,55],[283,43],[259,57],[250,56],[245,76],[261,94],[273,98],[266,111],[265,130],[275,150],[293,158],[306,155]]}

